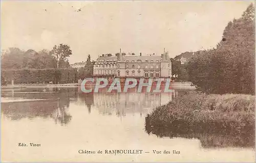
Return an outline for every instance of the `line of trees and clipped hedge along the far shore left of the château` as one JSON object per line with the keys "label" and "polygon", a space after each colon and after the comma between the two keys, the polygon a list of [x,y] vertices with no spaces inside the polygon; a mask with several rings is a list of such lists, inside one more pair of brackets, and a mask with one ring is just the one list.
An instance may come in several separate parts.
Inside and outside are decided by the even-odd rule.
{"label": "line of trees and clipped hedge along the far shore left of the ch\u00e2teau", "polygon": [[70,66],[68,58],[72,50],[67,44],[53,46],[51,51],[35,50],[22,51],[9,48],[2,52],[2,85],[11,84],[39,84],[39,83],[76,83],[79,78],[92,75],[90,55],[87,65],[77,70]]}

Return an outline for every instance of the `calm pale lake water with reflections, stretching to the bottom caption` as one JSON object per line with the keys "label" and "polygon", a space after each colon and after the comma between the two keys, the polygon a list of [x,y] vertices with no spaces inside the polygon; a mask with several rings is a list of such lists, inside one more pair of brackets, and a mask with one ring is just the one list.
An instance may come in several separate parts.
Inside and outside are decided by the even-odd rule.
{"label": "calm pale lake water with reflections, stretching to the bottom caption", "polygon": [[[211,134],[169,138],[148,134],[146,114],[179,98],[183,92],[82,94],[78,87],[2,89],[2,161],[255,160],[254,148],[243,147],[243,143],[233,146],[236,138]],[[19,143],[29,147],[19,147]],[[40,147],[30,147],[30,143]],[[126,149],[143,151],[105,153]],[[96,153],[80,154],[78,150]],[[98,150],[103,153],[98,154]],[[180,154],[173,154],[173,150]]]}

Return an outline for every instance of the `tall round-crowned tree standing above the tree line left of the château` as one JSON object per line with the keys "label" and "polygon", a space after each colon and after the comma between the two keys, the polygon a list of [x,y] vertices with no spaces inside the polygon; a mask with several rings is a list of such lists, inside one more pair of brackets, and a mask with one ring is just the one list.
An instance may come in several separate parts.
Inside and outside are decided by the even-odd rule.
{"label": "tall round-crowned tree standing above the tree line left of the ch\u00e2teau", "polygon": [[59,65],[61,65],[59,64],[60,62],[64,61],[67,63],[68,57],[72,55],[72,51],[69,45],[60,43],[58,46],[53,46],[53,49],[50,51],[50,55],[52,55],[55,58],[56,67],[59,68]]}

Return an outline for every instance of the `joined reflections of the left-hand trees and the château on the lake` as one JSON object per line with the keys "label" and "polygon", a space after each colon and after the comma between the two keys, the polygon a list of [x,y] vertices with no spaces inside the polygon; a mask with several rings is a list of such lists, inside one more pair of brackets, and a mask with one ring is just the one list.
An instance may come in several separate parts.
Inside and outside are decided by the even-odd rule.
{"label": "joined reflections of the left-hand trees and the ch\u00e2teau on the lake", "polygon": [[[141,93],[135,92],[137,88],[131,89],[131,92],[128,93],[107,93],[107,89],[100,89],[98,93],[89,94],[79,91],[77,87],[4,89],[3,98],[47,100],[2,103],[2,112],[11,120],[37,117],[52,118],[56,123],[62,125],[68,124],[72,119],[68,111],[70,102],[85,106],[89,114],[94,108],[102,115],[114,114],[121,117],[127,113],[133,115],[139,113],[142,117],[143,113],[148,113],[153,108],[172,101],[178,96],[178,91],[175,90],[165,94],[146,92],[145,88],[142,89]],[[36,92],[36,94],[31,92]]]}

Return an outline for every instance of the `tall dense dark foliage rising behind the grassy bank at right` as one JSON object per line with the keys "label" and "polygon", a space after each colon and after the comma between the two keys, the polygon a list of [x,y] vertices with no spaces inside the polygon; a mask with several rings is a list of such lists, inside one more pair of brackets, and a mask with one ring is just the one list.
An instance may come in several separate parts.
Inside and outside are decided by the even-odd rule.
{"label": "tall dense dark foliage rising behind the grassy bank at right", "polygon": [[230,21],[217,49],[193,55],[187,65],[189,81],[213,94],[254,94],[254,7]]}

